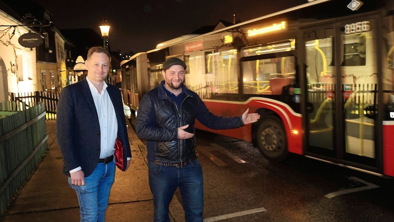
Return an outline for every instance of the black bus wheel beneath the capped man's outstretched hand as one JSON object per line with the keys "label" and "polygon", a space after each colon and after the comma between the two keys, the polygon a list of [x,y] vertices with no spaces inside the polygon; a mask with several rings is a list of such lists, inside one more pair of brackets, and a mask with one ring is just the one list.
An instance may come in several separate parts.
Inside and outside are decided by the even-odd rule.
{"label": "black bus wheel beneath the capped man's outstretched hand", "polygon": [[281,162],[289,154],[285,128],[275,116],[268,116],[261,121],[257,143],[263,156],[269,161]]}

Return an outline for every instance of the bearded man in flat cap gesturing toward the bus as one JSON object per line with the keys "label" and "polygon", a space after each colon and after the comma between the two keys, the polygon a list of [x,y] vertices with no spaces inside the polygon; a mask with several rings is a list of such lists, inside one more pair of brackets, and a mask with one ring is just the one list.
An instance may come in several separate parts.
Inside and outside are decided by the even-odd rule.
{"label": "bearded man in flat cap gesturing toward the bus", "polygon": [[202,222],[202,168],[196,153],[195,120],[212,129],[230,129],[256,122],[260,115],[223,117],[210,112],[197,93],[184,86],[186,64],[170,58],[163,64],[164,81],[141,100],[135,123],[140,139],[147,140],[149,186],[154,221],[169,222],[168,207],[177,187],[186,222]]}

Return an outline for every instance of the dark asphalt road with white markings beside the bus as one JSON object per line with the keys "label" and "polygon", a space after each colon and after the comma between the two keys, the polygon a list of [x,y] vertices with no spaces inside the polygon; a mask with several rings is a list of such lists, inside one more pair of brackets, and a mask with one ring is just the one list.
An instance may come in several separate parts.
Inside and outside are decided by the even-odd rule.
{"label": "dark asphalt road with white markings beside the bus", "polygon": [[272,163],[250,143],[196,135],[205,222],[394,221],[394,180],[298,155]]}

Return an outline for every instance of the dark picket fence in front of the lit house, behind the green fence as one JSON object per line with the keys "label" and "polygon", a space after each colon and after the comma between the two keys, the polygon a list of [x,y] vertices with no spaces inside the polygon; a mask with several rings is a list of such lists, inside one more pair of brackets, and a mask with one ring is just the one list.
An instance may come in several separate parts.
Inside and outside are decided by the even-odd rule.
{"label": "dark picket fence in front of the lit house, behind the green fence", "polygon": [[59,94],[35,91],[28,93],[11,93],[10,97],[12,102],[23,104],[22,106],[16,106],[16,111],[22,111],[38,103],[43,103],[46,111],[46,119],[56,119]]}

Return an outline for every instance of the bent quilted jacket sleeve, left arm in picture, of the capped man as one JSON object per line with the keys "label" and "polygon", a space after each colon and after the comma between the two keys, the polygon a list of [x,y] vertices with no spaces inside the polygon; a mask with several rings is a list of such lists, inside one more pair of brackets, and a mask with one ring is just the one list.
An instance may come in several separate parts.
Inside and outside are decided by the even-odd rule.
{"label": "bent quilted jacket sleeve, left arm in picture, of the capped man", "polygon": [[153,104],[153,94],[150,91],[142,98],[138,115],[135,120],[135,133],[140,139],[149,141],[174,141],[178,139],[178,129],[167,129],[155,126],[155,109]]}

